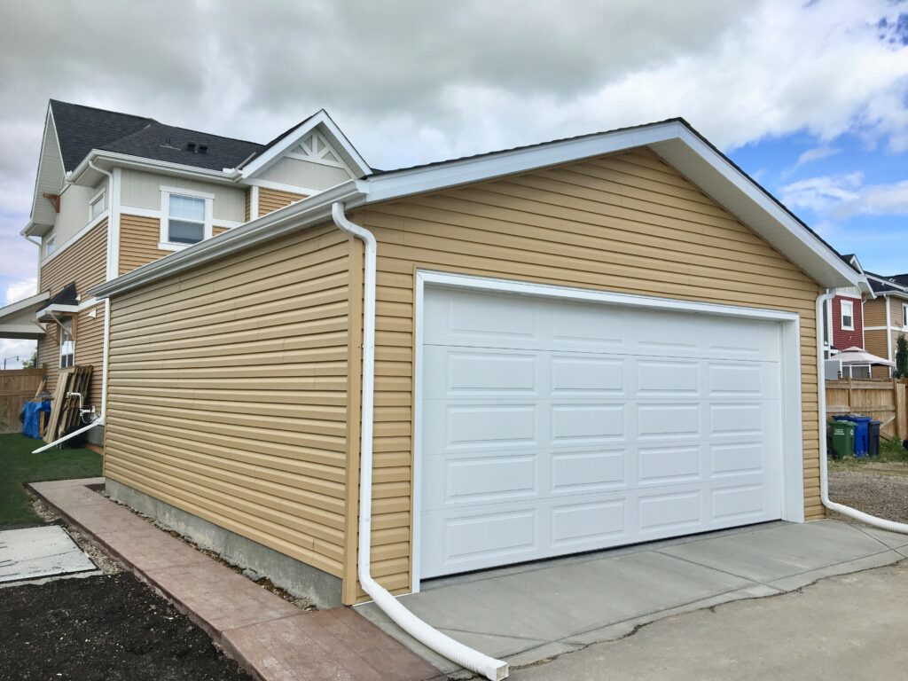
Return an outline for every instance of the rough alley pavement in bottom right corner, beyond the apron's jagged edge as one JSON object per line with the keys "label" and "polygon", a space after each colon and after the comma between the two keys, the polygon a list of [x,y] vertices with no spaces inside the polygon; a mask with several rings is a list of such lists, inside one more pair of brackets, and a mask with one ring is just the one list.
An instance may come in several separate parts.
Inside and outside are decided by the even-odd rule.
{"label": "rough alley pavement in bottom right corner, beyond the apron's jagged edge", "polygon": [[514,681],[763,681],[905,677],[908,564],[817,582],[798,593],[662,619],[620,641],[547,664]]}

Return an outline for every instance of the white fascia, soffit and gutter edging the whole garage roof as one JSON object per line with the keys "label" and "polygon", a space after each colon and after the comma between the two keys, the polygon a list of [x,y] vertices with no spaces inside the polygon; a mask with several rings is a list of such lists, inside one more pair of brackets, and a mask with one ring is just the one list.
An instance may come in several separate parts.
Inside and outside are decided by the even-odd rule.
{"label": "white fascia, soffit and gutter edging the whole garage roof", "polygon": [[331,220],[331,204],[346,209],[526,173],[607,153],[646,146],[714,201],[769,242],[822,286],[860,286],[864,274],[744,173],[684,119],[673,118],[500,152],[427,163],[351,180],[271,212],[182,252],[143,265],[93,292],[114,295],[185,271],[232,252]]}

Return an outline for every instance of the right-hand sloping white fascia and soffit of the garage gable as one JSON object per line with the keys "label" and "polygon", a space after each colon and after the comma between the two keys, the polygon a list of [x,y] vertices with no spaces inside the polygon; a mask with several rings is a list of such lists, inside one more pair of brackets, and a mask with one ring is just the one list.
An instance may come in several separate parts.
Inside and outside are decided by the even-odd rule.
{"label": "right-hand sloping white fascia and soffit of the garage gable", "polygon": [[825,288],[865,281],[764,189],[684,125],[653,151]]}

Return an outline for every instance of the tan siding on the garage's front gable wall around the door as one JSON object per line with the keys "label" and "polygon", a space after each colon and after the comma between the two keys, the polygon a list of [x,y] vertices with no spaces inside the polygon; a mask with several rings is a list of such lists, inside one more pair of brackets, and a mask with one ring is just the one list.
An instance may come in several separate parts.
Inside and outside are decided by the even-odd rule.
{"label": "tan siding on the garage's front gable wall around the door", "polygon": [[[383,586],[410,587],[419,268],[797,312],[805,511],[824,517],[814,316],[820,287],[655,154],[622,153],[350,217],[379,242],[372,572]],[[356,512],[351,497],[348,513]]]}

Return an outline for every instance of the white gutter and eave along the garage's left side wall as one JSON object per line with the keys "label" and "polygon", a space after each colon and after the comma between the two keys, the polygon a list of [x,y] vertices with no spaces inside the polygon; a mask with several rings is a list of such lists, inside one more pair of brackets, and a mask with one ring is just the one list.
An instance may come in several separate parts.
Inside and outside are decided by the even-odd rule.
{"label": "white gutter and eave along the garage's left side wall", "polygon": [[256,220],[246,222],[222,232],[211,239],[193,243],[189,248],[166,258],[161,258],[123,274],[95,287],[89,293],[97,298],[109,298],[125,291],[173,276],[179,272],[198,267],[233,252],[296,232],[321,222],[331,220],[331,204],[343,202],[347,208],[355,208],[365,202],[368,185],[361,181],[349,180],[302,201],[291,203],[280,210],[270,212]]}

